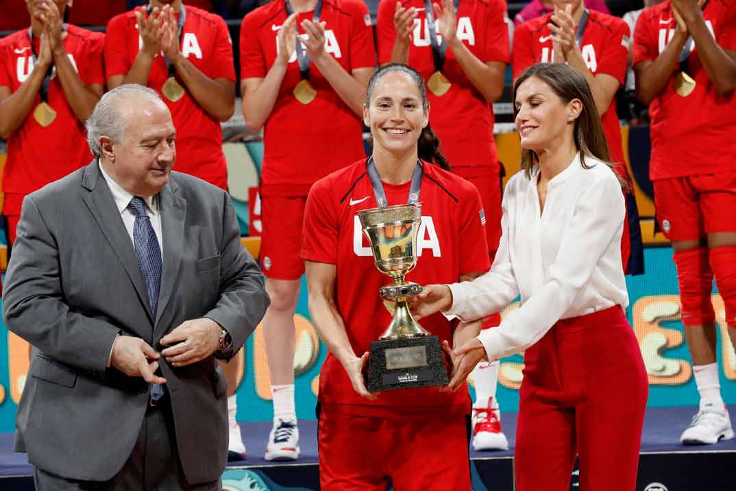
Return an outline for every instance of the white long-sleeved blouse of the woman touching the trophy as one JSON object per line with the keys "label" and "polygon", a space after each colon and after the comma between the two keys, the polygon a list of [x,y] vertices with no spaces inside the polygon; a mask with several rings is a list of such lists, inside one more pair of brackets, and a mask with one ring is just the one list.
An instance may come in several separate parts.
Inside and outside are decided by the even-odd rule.
{"label": "white long-sleeved blouse of the woman touching the trophy", "polygon": [[501,324],[481,331],[489,360],[534,345],[559,319],[629,305],[621,265],[625,205],[609,166],[579,154],[548,184],[539,211],[535,166],[519,172],[503,192],[503,218],[495,261],[473,281],[450,286],[446,312],[464,321],[500,311],[521,294],[520,307]]}

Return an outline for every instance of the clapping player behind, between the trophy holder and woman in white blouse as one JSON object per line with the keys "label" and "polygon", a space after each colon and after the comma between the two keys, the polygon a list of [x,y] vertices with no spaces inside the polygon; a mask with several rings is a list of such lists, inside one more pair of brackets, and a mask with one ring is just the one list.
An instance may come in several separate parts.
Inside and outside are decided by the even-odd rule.
{"label": "clapping player behind, between the trophy holder and woman in white blouse", "polygon": [[[436,22],[435,22],[436,21]],[[509,52],[503,0],[383,0],[378,6],[378,59],[408,63],[425,78],[431,124],[453,172],[478,188],[493,261],[500,239],[500,163],[493,138],[492,102],[503,91]],[[484,328],[500,323],[493,314]],[[473,372],[473,448],[505,450],[496,399],[498,360]]]}

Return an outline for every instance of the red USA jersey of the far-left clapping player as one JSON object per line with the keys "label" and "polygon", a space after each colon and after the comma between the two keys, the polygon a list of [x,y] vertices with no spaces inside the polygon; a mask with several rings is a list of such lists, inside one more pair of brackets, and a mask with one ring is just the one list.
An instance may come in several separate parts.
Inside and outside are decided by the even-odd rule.
{"label": "red USA jersey of the far-left clapping player", "polygon": [[[99,32],[67,25],[64,49],[85,85],[105,84],[102,70],[104,43],[105,35]],[[35,38],[34,49],[37,53],[39,48],[40,38]],[[9,87],[13,92],[18,91],[33,67],[28,29],[0,40],[0,85]],[[45,128],[33,118],[33,110],[40,102],[40,95],[36,95],[23,124],[8,138],[7,162],[3,170],[3,191],[6,193],[28,194],[92,160],[85,126],[67,102],[56,68],[49,85],[49,105],[57,116]],[[49,149],[53,149],[53,152],[49,152]],[[12,212],[6,206],[6,213]]]}

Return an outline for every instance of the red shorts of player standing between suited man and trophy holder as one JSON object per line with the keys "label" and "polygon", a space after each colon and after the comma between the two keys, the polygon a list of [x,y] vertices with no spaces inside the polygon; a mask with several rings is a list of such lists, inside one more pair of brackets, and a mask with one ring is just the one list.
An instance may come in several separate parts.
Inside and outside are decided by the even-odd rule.
{"label": "red shorts of player standing between suited man and trophy holder", "polygon": [[306,197],[261,196],[261,269],[267,278],[298,280]]}

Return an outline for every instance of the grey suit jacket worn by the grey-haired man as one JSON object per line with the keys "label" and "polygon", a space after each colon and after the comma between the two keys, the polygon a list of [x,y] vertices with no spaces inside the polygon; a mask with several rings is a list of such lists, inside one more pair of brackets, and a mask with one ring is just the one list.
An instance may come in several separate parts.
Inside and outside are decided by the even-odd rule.
{"label": "grey suit jacket worn by the grey-haired man", "polygon": [[[163,273],[155,314],[96,160],[24,199],[3,291],[5,325],[35,347],[16,450],[58,476],[105,481],[132,452],[149,386],[106,368],[118,333],[160,350],[161,337],[181,322],[209,317],[232,336],[233,349],[223,353],[230,358],[269,304],[227,193],[172,172],[159,197]],[[160,371],[187,480],[219,478],[227,383],[215,358],[174,368],[162,357]]]}

